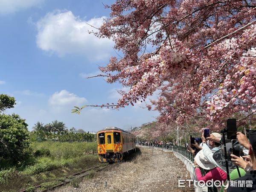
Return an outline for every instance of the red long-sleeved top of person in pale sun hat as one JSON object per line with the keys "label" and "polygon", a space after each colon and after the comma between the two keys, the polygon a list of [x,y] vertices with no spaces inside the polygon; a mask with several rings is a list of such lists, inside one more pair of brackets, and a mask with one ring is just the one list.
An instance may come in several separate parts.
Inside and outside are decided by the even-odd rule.
{"label": "red long-sleeved top of person in pale sun hat", "polygon": [[215,167],[209,172],[202,176],[201,170],[196,168],[195,169],[196,176],[198,177],[198,181],[204,181],[206,182],[207,180],[219,180],[219,181],[225,181],[227,180],[227,174],[220,168]]}

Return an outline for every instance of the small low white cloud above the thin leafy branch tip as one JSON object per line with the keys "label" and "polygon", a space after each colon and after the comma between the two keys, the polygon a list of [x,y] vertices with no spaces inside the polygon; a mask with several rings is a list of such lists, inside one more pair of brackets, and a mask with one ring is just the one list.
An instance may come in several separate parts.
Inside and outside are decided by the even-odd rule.
{"label": "small low white cloud above the thin leafy branch tip", "polygon": [[60,92],[55,92],[50,96],[48,103],[52,107],[65,107],[65,106],[75,106],[81,105],[87,102],[84,97],[79,97],[74,93],[69,93],[67,90],[61,90]]}

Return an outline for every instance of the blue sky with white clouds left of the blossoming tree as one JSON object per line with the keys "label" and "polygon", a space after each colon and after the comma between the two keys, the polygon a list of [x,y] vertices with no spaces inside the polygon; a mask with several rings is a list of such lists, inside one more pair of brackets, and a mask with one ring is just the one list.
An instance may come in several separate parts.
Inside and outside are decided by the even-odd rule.
{"label": "blue sky with white clouds left of the blossoming tree", "polygon": [[74,105],[116,102],[116,90],[122,89],[102,78],[84,79],[98,74],[98,66],[115,55],[111,40],[87,32],[93,29],[87,23],[97,27],[108,17],[110,10],[102,3],[114,1],[0,0],[0,93],[16,98],[17,105],[6,113],[20,114],[30,131],[37,121],[53,120],[85,131],[126,129],[158,116],[144,109],[145,103],[71,113]]}

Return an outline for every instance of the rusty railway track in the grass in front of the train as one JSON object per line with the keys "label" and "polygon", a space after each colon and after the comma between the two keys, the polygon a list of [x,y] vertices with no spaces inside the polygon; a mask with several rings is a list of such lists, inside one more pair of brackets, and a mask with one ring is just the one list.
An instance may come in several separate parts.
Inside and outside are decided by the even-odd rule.
{"label": "rusty railway track in the grass in front of the train", "polygon": [[[112,164],[110,164],[108,166],[105,166],[105,167],[95,166],[95,167],[91,167],[90,169],[85,169],[85,170],[83,170],[81,172],[77,172],[77,173],[74,173],[72,175],[68,175],[66,177],[61,177],[62,179],[65,178],[65,179],[68,179],[68,180],[66,180],[65,182],[62,182],[62,183],[60,183],[58,185],[49,187],[48,189],[40,190],[39,188],[42,186],[41,184],[34,186],[34,188],[35,188],[35,191],[36,191],[36,189],[38,189],[38,191],[40,191],[40,192],[47,192],[49,190],[55,189],[56,187],[63,186],[65,184],[67,184],[67,183],[70,183],[73,179],[78,179],[78,178],[81,178],[81,177],[85,177],[87,175],[90,175],[92,172],[102,171],[103,169],[106,169],[107,167],[110,167],[111,165]],[[73,177],[73,178],[69,179],[70,177]],[[52,181],[49,181],[49,182],[55,182],[55,181],[59,181],[59,180],[60,180],[60,178],[52,180]],[[27,192],[27,190],[26,189],[22,189],[22,190],[20,190],[18,192]]]}

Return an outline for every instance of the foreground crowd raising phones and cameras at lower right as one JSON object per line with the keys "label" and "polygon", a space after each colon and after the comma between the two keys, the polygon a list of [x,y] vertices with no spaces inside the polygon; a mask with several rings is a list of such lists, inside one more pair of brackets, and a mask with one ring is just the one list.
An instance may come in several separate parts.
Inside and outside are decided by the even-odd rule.
{"label": "foreground crowd raising phones and cameras at lower right", "polygon": [[[223,134],[212,133],[205,138],[202,133],[201,143],[188,143],[188,151],[195,156],[198,181],[223,182],[217,187],[221,192],[256,192],[256,130],[247,130],[249,140],[237,132],[236,144],[224,135],[223,138]],[[239,157],[233,154],[234,148],[239,151]],[[202,169],[207,172],[204,176]]]}

